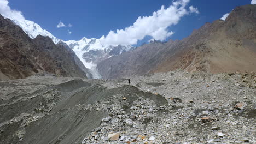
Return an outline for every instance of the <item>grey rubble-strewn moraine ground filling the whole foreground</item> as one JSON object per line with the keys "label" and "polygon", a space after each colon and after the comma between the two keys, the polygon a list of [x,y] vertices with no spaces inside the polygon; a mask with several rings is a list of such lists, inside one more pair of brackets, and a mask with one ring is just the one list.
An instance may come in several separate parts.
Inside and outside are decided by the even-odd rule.
{"label": "grey rubble-strewn moraine ground filling the whole foreground", "polygon": [[0,88],[0,143],[256,142],[255,73],[42,73]]}

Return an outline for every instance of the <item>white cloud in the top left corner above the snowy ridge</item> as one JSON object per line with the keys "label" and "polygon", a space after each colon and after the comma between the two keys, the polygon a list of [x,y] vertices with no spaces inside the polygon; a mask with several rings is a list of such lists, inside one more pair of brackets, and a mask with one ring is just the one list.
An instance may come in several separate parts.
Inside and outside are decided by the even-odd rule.
{"label": "white cloud in the top left corner above the snowy ridge", "polygon": [[0,0],[0,14],[4,17],[8,17],[11,20],[22,21],[25,20],[21,11],[12,10],[8,5],[7,0]]}

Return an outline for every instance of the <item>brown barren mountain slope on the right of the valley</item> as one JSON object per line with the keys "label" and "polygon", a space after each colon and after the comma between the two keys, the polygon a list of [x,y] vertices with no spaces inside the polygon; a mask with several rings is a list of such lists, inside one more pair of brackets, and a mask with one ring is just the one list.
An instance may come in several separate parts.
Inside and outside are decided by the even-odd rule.
{"label": "brown barren mountain slope on the right of the valley", "polygon": [[235,8],[229,17],[206,23],[181,41],[153,41],[102,61],[104,78],[166,72],[174,69],[222,73],[256,71],[256,5]]}

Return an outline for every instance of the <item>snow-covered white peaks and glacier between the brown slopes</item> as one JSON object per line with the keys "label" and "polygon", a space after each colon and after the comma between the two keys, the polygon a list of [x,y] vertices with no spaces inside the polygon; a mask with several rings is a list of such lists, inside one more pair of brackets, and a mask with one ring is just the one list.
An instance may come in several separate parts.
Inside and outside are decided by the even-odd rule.
{"label": "snow-covered white peaks and glacier between the brown slopes", "polygon": [[14,20],[16,25],[20,26],[23,31],[31,38],[34,39],[37,35],[43,35],[50,37],[55,44],[61,41],[66,43],[78,56],[80,61],[83,62],[86,68],[90,69],[94,79],[101,78],[101,75],[97,71],[97,64],[104,59],[112,56],[120,55],[123,52],[131,50],[132,46],[121,46],[121,45],[103,45],[101,40],[105,37],[104,35],[100,39],[96,38],[82,38],[81,40],[68,40],[63,41],[53,34],[40,27],[37,23],[29,20]]}

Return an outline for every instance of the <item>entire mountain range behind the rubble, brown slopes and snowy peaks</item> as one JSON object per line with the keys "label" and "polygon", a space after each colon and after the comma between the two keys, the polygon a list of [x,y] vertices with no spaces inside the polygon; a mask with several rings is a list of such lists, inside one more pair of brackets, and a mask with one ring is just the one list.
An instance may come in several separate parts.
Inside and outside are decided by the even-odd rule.
{"label": "entire mountain range behind the rubble, brown slopes and snowy peaks", "polygon": [[183,40],[154,40],[136,48],[103,45],[104,37],[63,41],[33,21],[13,21],[16,26],[0,18],[0,76],[10,79],[38,71],[106,79],[175,69],[256,71],[256,5],[236,7],[225,21],[207,22]]}

